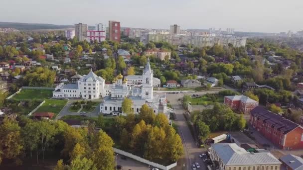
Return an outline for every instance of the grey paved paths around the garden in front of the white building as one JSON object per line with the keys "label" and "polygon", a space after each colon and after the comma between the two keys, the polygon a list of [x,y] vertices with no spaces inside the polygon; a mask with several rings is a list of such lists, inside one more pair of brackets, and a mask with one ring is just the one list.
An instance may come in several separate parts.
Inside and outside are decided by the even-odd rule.
{"label": "grey paved paths around the garden in front of the white building", "polygon": [[[80,113],[75,113],[75,112],[70,112],[68,109],[71,107],[72,103],[75,102],[77,100],[69,100],[67,102],[67,104],[63,107],[63,109],[60,111],[60,113],[58,114],[58,116],[56,117],[56,120],[60,119],[63,116],[66,115],[80,115]],[[80,101],[80,100],[78,100]],[[102,102],[102,100],[92,100],[92,101],[98,101],[98,102]],[[98,114],[100,113],[100,107],[99,104],[96,106],[95,110],[90,112],[90,113],[86,113],[86,116],[88,117],[98,117]]]}

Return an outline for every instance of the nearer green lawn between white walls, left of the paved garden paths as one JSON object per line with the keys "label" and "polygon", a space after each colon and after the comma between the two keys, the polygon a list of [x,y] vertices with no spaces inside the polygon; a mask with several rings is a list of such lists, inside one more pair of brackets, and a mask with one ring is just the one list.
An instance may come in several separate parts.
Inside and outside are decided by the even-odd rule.
{"label": "nearer green lawn between white walls, left of the paved garden paths", "polygon": [[36,112],[53,112],[55,113],[55,116],[53,117],[54,119],[66,103],[67,100],[46,99],[45,103],[41,107],[39,107]]}

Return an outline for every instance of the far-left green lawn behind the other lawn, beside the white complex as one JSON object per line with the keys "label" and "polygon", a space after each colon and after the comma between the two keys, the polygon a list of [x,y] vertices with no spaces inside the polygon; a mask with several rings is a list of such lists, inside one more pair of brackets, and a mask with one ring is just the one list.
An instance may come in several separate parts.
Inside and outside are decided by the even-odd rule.
{"label": "far-left green lawn behind the other lawn, beside the white complex", "polygon": [[48,89],[22,89],[12,97],[15,100],[44,100],[52,97],[52,91]]}

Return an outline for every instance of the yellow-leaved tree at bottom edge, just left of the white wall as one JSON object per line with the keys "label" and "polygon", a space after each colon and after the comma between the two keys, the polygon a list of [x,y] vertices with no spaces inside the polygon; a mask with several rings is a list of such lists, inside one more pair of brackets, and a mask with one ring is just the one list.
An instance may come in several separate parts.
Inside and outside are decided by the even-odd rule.
{"label": "yellow-leaved tree at bottom edge, just left of the white wall", "polygon": [[92,161],[98,170],[114,169],[115,157],[112,148],[113,145],[113,140],[103,130],[100,130],[92,146]]}

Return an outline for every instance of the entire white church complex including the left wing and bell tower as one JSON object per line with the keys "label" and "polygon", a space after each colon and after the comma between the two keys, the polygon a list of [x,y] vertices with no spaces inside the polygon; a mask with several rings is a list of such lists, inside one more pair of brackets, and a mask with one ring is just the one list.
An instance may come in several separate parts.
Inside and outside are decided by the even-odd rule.
{"label": "entire white church complex including the left wing and bell tower", "polygon": [[[81,77],[81,78],[80,78]],[[77,84],[59,84],[53,91],[54,98],[82,98],[99,99],[104,98],[100,104],[100,112],[110,115],[121,115],[122,102],[124,98],[133,101],[133,110],[139,113],[143,104],[148,104],[154,111],[167,112],[166,96],[153,95],[154,78],[150,61],[140,76],[140,85],[130,84],[127,78],[119,74],[111,85],[105,85],[105,80],[92,71],[88,75],[80,76]]]}

